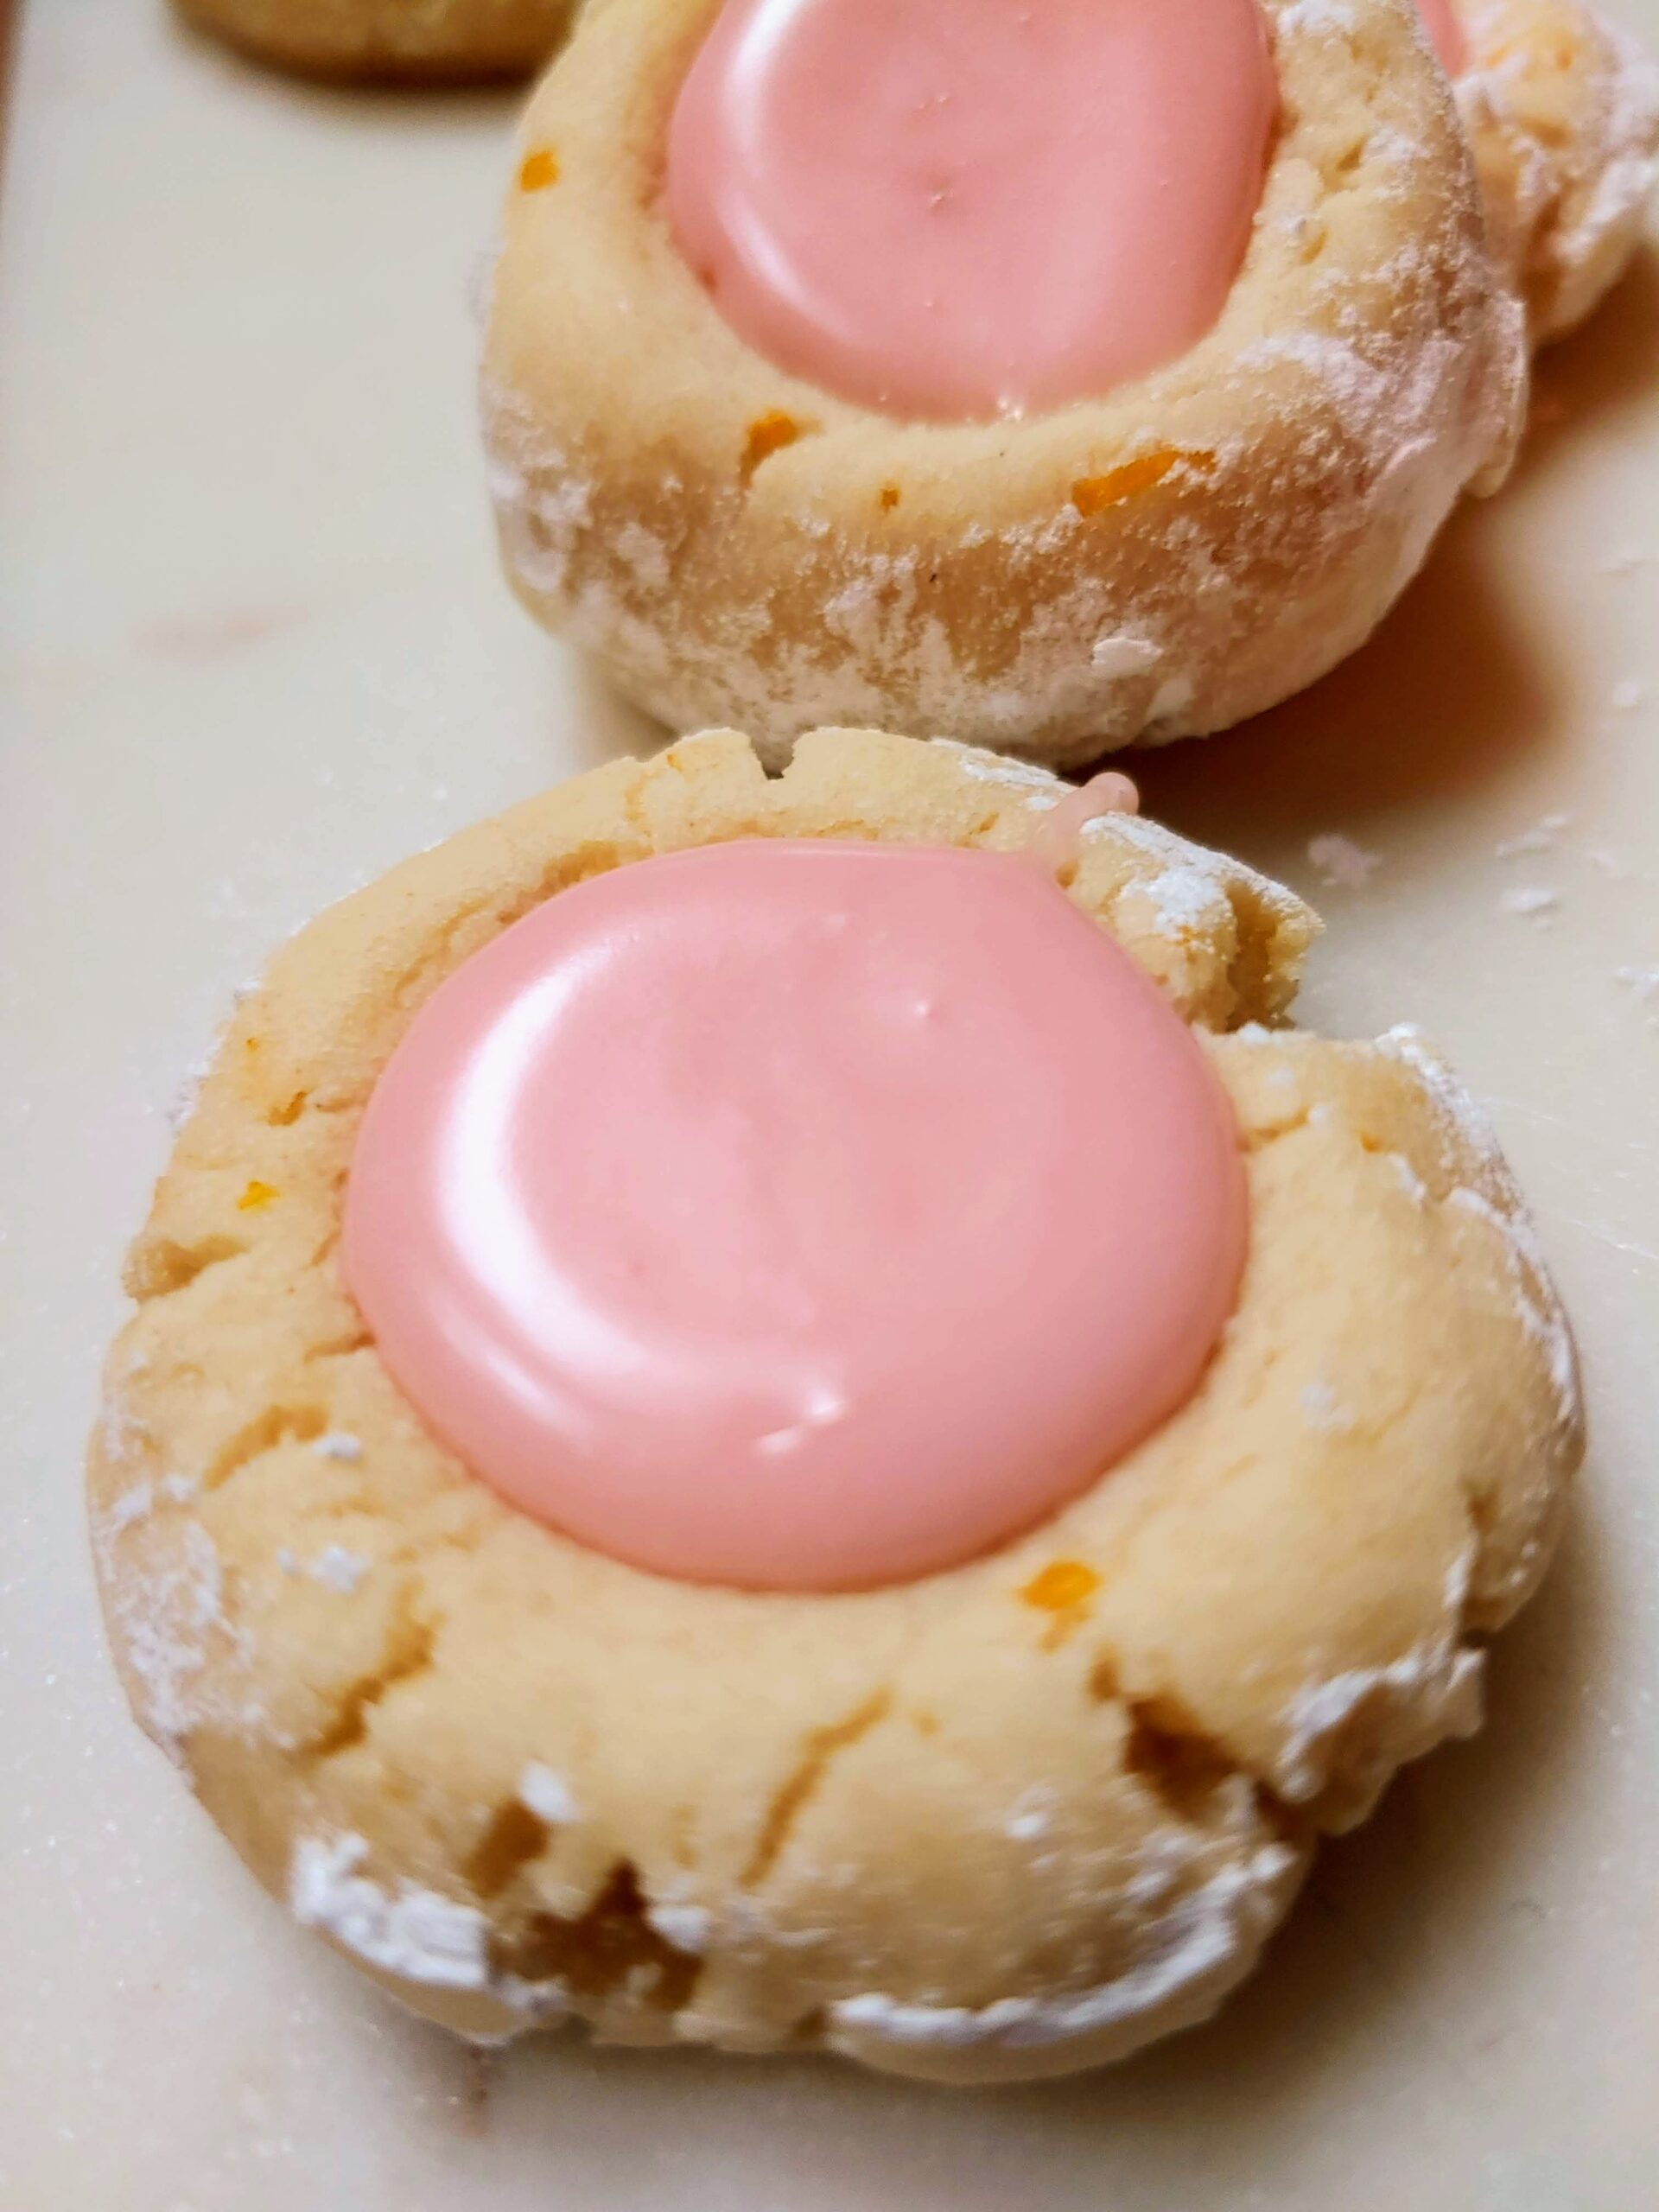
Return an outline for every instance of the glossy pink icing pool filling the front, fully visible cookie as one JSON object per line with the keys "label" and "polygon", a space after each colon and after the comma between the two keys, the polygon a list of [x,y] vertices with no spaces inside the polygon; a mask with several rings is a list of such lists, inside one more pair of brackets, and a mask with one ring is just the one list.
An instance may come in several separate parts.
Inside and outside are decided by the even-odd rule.
{"label": "glossy pink icing pool filling the front, fully visible cookie", "polygon": [[1192,1391],[1230,1106],[1029,860],[750,841],[546,900],[369,1102],[345,1274],[524,1513],[776,1590],[969,1559]]}

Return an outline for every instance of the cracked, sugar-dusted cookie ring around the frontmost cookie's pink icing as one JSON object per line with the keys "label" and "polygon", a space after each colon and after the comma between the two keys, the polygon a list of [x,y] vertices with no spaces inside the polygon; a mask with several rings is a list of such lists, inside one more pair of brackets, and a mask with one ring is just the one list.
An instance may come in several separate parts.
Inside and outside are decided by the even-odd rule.
{"label": "cracked, sugar-dusted cookie ring around the frontmost cookie's pink icing", "polygon": [[1250,1259],[1188,1402],[1026,1535],[843,1595],[641,1573],[469,1475],[345,1290],[365,1104],[515,920],[728,838],[1006,852],[1062,799],[958,745],[816,732],[779,781],[706,734],[394,869],[239,1004],[128,1263],[100,1584],[146,1730],[422,2013],[1095,2064],[1203,2017],[1316,1836],[1475,1725],[1582,1449],[1566,1323],[1451,1077],[1263,1026],[1314,918],[1152,823],[1091,825],[1071,898],[1225,1088]]}

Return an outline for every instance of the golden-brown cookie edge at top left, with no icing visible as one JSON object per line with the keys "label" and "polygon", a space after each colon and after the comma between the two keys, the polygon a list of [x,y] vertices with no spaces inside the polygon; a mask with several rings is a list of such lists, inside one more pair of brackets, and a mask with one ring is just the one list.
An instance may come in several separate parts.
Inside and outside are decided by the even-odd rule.
{"label": "golden-brown cookie edge at top left, with no icing visible", "polygon": [[522,77],[564,38],[580,0],[173,0],[261,62],[307,77],[467,82]]}

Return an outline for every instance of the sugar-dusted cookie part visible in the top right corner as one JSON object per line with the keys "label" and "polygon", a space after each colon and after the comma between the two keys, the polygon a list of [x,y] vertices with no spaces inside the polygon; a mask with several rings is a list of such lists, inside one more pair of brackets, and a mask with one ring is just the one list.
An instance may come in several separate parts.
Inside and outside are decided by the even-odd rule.
{"label": "sugar-dusted cookie part visible in the top right corner", "polygon": [[1451,0],[1493,257],[1537,345],[1624,274],[1659,177],[1659,69],[1588,0]]}

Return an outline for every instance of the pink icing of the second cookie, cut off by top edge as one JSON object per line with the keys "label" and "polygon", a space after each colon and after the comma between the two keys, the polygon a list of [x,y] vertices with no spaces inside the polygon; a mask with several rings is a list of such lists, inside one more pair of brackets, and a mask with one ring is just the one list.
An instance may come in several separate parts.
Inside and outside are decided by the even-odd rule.
{"label": "pink icing of the second cookie, cut off by top edge", "polygon": [[827,392],[1060,407],[1210,330],[1276,102],[1256,0],[726,0],[668,215],[739,336]]}

